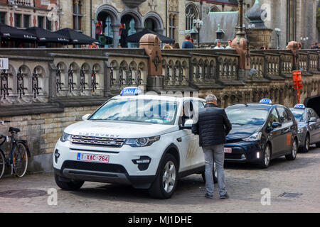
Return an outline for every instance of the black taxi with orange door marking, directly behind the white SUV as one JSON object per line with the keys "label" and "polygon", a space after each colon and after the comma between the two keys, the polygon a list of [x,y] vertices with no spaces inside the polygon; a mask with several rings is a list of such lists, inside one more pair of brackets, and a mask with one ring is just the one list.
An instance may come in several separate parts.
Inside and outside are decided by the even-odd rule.
{"label": "black taxi with orange door marking, directly behind the white SUV", "polygon": [[228,106],[225,112],[233,125],[225,144],[226,162],[252,162],[267,168],[274,158],[297,157],[297,121],[286,106],[262,99],[259,104]]}

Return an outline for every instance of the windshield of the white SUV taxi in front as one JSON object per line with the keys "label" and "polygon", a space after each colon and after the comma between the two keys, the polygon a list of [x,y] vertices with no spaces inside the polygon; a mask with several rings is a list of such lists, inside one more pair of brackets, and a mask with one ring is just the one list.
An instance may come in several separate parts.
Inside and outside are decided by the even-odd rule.
{"label": "windshield of the white SUV taxi in front", "polygon": [[110,99],[89,120],[174,124],[177,106],[166,100]]}

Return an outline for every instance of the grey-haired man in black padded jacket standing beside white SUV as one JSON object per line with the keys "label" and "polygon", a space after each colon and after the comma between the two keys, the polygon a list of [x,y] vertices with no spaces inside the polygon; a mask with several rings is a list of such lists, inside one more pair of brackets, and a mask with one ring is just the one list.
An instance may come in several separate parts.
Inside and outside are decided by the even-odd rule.
{"label": "grey-haired man in black padded jacket standing beside white SUV", "polygon": [[225,189],[225,173],[223,164],[225,161],[224,143],[225,137],[231,131],[232,126],[224,109],[217,107],[217,98],[213,94],[206,97],[206,106],[198,114],[198,121],[193,123],[192,133],[199,135],[199,145],[203,148],[206,160],[206,197],[213,197],[213,162],[218,172],[218,187],[221,199],[228,199]]}

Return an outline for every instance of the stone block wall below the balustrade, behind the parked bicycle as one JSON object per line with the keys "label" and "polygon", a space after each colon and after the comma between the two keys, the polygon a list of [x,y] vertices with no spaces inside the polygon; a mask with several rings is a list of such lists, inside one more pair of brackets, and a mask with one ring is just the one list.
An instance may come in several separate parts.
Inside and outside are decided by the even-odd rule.
{"label": "stone block wall below the balustrade, behind the parked bicycle", "polygon": [[[61,113],[1,117],[1,121],[11,121],[11,123],[0,126],[0,134],[7,135],[9,127],[20,128],[21,132],[16,138],[27,140],[31,152],[28,170],[32,172],[52,170],[51,156],[63,130],[70,124],[81,121],[85,114],[92,114],[98,107],[67,107]],[[8,151],[9,145],[5,143],[2,148]]]}

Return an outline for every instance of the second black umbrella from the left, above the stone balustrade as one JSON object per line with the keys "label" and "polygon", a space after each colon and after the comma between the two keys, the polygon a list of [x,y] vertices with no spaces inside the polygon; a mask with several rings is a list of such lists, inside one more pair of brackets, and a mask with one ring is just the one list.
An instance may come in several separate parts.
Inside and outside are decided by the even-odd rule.
{"label": "second black umbrella from the left, above the stone balustrade", "polygon": [[32,27],[27,28],[26,31],[35,35],[38,43],[69,43],[68,37],[43,28]]}

